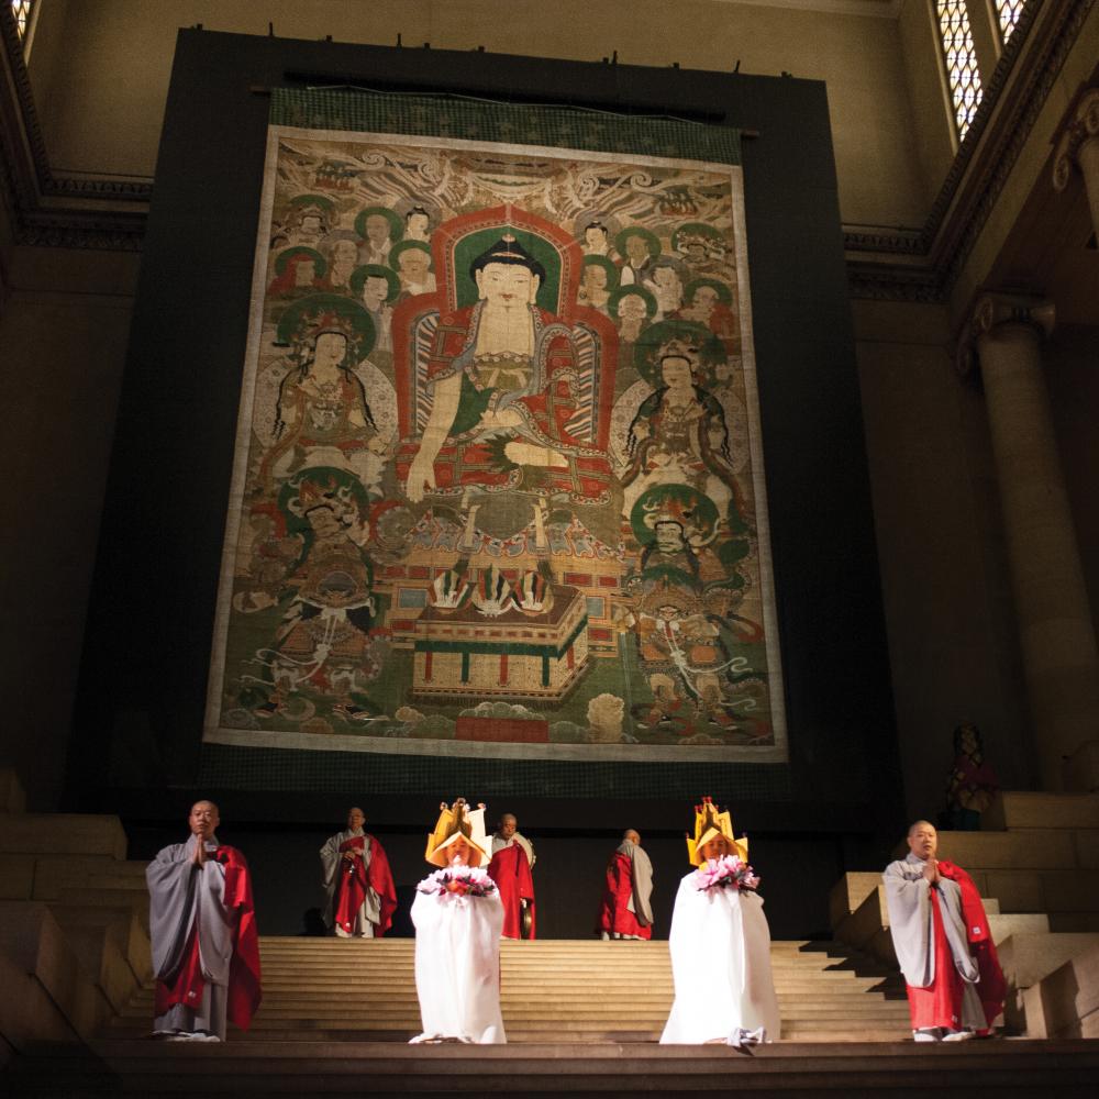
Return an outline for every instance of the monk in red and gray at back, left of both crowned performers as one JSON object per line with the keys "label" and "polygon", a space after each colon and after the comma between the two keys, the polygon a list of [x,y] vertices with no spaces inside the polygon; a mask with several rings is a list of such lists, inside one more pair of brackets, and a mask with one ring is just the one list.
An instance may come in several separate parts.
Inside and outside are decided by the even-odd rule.
{"label": "monk in red and gray at back, left of both crowned performers", "polygon": [[381,844],[363,831],[366,814],[347,810],[347,828],[321,847],[324,922],[340,939],[380,939],[392,925],[397,888]]}

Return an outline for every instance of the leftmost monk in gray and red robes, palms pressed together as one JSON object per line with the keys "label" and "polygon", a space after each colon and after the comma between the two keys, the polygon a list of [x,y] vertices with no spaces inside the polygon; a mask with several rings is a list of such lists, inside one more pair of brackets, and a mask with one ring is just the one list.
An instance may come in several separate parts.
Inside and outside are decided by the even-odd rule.
{"label": "leftmost monk in gray and red robes, palms pressed together", "polygon": [[214,834],[212,801],[196,801],[186,843],[145,870],[156,977],[153,1033],[223,1042],[225,1021],[247,1030],[259,1006],[259,937],[248,864]]}

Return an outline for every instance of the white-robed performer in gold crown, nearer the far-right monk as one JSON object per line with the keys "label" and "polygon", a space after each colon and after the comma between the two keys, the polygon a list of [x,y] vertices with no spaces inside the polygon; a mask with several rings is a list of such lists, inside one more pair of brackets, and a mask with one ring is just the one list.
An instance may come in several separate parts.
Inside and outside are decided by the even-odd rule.
{"label": "white-robed performer in gold crown, nearer the far-right monk", "polygon": [[698,869],[676,893],[668,936],[676,998],[660,1043],[776,1042],[770,931],[755,892],[758,878],[747,866],[747,841],[735,840],[729,813],[703,798],[687,850]]}

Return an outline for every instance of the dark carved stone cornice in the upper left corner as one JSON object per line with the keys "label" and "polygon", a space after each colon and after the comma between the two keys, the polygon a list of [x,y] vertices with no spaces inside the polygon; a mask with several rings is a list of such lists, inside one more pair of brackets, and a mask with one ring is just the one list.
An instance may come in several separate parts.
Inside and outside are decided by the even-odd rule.
{"label": "dark carved stone cornice in the upper left corner", "polygon": [[53,174],[15,19],[0,3],[0,192],[15,243],[137,251],[152,191],[141,179]]}

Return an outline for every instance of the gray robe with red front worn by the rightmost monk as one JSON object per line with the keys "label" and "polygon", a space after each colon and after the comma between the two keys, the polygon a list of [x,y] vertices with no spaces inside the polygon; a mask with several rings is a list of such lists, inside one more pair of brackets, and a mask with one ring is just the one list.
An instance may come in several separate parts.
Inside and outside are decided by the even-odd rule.
{"label": "gray robe with red front worn by the rightmost monk", "polygon": [[932,887],[923,876],[926,865],[910,853],[890,863],[882,875],[893,950],[909,986],[912,1028],[981,1030],[988,1023],[975,987],[980,973],[970,953],[962,889],[946,877]]}

